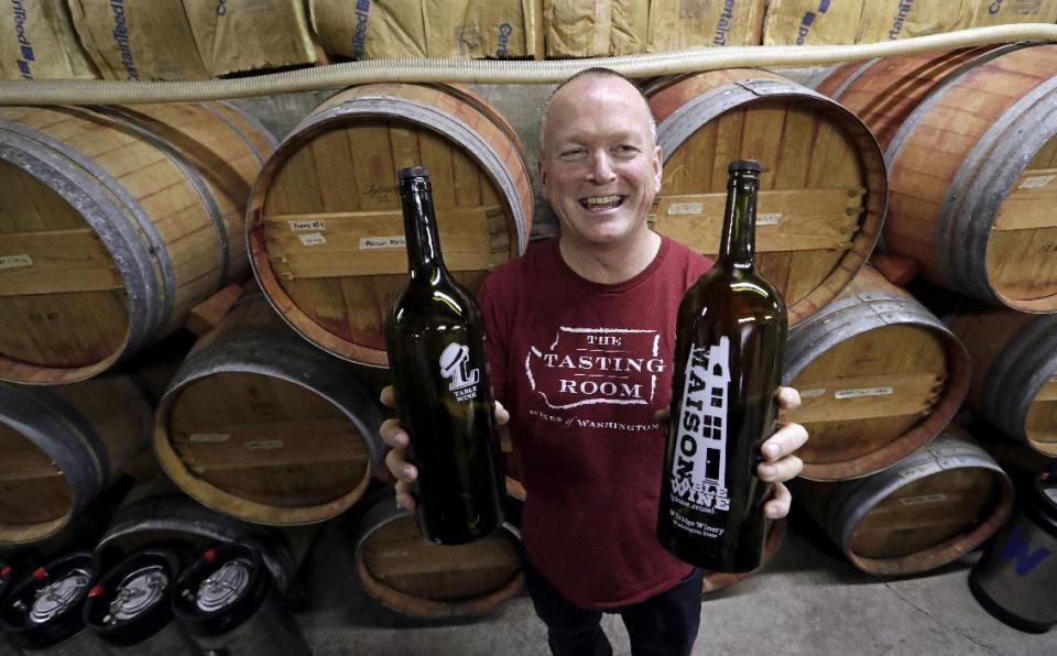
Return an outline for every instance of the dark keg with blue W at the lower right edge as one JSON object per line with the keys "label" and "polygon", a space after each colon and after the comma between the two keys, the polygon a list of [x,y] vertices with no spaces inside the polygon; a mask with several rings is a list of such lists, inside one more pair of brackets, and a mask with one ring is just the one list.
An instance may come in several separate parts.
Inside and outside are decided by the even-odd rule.
{"label": "dark keg with blue W at the lower right edge", "polygon": [[1025,486],[1018,512],[969,573],[989,613],[1031,633],[1057,624],[1057,463]]}

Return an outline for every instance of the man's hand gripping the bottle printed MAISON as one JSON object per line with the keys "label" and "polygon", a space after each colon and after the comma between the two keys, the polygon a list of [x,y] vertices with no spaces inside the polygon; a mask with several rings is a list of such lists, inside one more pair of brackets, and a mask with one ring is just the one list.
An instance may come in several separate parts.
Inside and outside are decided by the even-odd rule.
{"label": "man's hand gripping the bottle printed MAISON", "polygon": [[[778,407],[782,409],[796,409],[800,405],[800,393],[793,387],[778,387],[777,395]],[[657,412],[655,418],[660,424],[667,424],[669,413],[667,409],[662,409]],[[806,442],[806,428],[799,424],[783,424],[760,447],[763,461],[756,467],[756,475],[760,480],[773,484],[774,493],[763,504],[764,514],[772,520],[789,514],[793,495],[783,483],[795,479],[804,469],[804,462],[793,452]]]}

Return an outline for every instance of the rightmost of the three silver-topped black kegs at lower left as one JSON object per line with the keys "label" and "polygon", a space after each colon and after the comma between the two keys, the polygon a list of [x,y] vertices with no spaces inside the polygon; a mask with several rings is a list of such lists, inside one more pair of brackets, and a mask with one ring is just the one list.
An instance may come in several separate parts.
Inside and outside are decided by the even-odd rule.
{"label": "rightmost of the three silver-topped black kegs at lower left", "polygon": [[173,612],[206,652],[312,653],[261,553],[248,543],[217,545],[187,568],[176,581]]}

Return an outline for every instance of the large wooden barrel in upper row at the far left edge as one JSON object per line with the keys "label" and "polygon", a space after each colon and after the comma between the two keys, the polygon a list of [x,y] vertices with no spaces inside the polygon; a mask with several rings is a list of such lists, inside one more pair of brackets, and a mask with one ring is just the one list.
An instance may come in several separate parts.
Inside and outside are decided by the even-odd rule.
{"label": "large wooden barrel in upper row at the far left edge", "polygon": [[87,379],[241,280],[271,147],[217,102],[0,108],[0,379]]}

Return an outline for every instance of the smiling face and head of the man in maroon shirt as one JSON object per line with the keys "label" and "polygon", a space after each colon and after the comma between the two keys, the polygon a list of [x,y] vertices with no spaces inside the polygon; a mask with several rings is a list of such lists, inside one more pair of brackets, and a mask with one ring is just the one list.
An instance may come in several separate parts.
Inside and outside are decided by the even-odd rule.
{"label": "smiling face and head of the man in maroon shirt", "polygon": [[562,239],[619,245],[646,230],[661,190],[661,149],[639,91],[617,77],[580,78],[551,101],[540,160]]}

